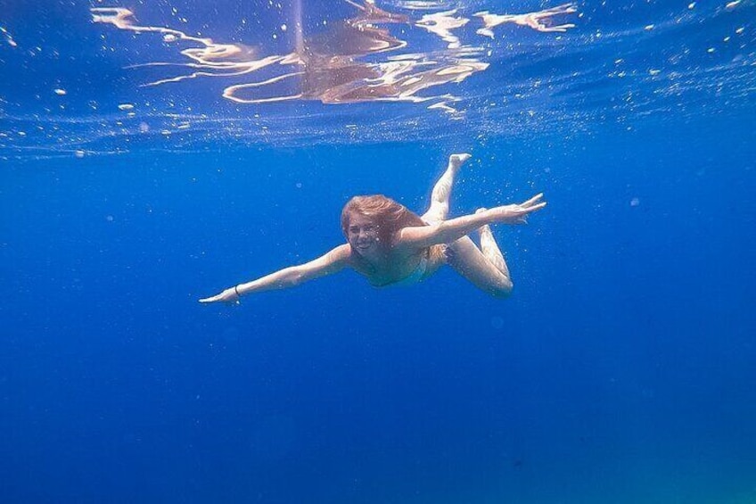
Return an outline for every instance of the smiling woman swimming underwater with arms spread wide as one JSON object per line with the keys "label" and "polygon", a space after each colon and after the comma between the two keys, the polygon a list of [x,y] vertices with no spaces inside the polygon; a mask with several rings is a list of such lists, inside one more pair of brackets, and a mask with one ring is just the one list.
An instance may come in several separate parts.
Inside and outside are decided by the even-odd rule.
{"label": "smiling woman swimming underwater with arms spread wide", "polygon": [[[528,215],[546,206],[543,194],[526,202],[479,209],[448,219],[448,202],[457,170],[470,154],[452,154],[448,168],[431,193],[423,216],[383,196],[355,196],[341,211],[341,229],[347,238],[325,255],[298,266],[280,269],[245,284],[234,285],[200,302],[238,302],[242,295],[300,285],[317,277],[351,268],[371,285],[408,285],[430,277],[448,264],[473,285],[494,296],[512,292],[504,256],[491,234],[490,224],[523,224]],[[468,236],[478,231],[481,247]]]}

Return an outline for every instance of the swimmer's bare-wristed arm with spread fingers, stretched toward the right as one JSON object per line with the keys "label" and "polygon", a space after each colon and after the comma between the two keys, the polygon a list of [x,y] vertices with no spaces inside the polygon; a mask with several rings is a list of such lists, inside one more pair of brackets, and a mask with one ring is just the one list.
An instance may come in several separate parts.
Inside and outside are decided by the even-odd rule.
{"label": "swimmer's bare-wristed arm with spread fingers, stretched toward the right", "polygon": [[498,206],[456,219],[442,220],[431,226],[405,227],[399,231],[396,246],[424,249],[432,245],[451,244],[486,224],[524,224],[530,213],[546,206],[542,198],[542,193],[536,194],[520,204]]}

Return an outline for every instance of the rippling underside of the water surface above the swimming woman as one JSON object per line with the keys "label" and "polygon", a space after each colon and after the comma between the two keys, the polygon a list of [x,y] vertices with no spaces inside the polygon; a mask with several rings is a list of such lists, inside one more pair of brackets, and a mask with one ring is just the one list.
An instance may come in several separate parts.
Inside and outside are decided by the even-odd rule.
{"label": "rippling underside of the water surface above the swimming woman", "polygon": [[0,86],[0,157],[527,140],[753,102],[753,2],[539,7],[172,2],[74,9],[80,41],[0,26],[0,62],[36,85]]}

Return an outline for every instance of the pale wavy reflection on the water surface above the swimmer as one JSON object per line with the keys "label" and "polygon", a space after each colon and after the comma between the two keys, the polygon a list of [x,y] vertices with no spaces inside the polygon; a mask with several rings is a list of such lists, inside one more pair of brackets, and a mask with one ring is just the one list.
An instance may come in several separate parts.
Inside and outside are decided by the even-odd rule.
{"label": "pale wavy reflection on the water surface above the swimmer", "polygon": [[[431,108],[456,112],[451,105],[458,97],[450,94],[421,95],[421,92],[449,83],[460,83],[474,73],[489,68],[486,52],[476,40],[465,41],[458,29],[475,22],[476,37],[494,37],[493,29],[504,23],[542,32],[563,32],[575,25],[555,19],[577,12],[574,4],[563,4],[539,12],[495,14],[477,12],[473,18],[457,10],[426,13],[419,19],[408,14],[388,12],[374,2],[357,4],[349,19],[325,23],[319,32],[304,33],[300,5],[294,6],[298,19],[291,27],[295,47],[289,54],[265,54],[240,44],[226,44],[206,37],[158,26],[143,26],[134,21],[126,8],[94,8],[93,20],[135,32],[162,34],[164,42],[193,44],[180,50],[190,62],[180,63],[191,73],[162,78],[149,85],[177,82],[186,78],[239,77],[258,75],[266,78],[234,83],[223,95],[236,103],[270,103],[285,100],[317,100],[321,103],[359,103],[370,101],[430,102]],[[281,27],[286,30],[288,26]],[[423,29],[436,36],[440,44],[421,52],[401,38],[407,30]],[[199,46],[197,46],[199,45]],[[145,65],[164,65],[150,62]]]}

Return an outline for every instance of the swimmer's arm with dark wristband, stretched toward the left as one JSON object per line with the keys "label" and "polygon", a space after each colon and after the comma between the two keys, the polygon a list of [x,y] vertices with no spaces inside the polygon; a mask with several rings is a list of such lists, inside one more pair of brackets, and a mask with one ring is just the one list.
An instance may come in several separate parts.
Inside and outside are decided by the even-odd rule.
{"label": "swimmer's arm with dark wristband, stretched toward the left", "polygon": [[260,293],[272,289],[285,289],[286,287],[300,285],[302,282],[307,282],[317,277],[324,277],[343,269],[349,262],[350,254],[349,244],[339,245],[331,252],[318,257],[316,260],[280,269],[275,273],[252,280],[246,284],[229,287],[222,293],[201,299],[200,302],[235,302],[244,294]]}

